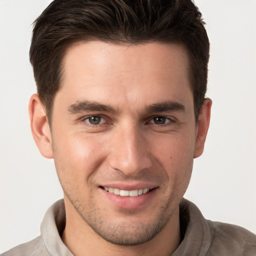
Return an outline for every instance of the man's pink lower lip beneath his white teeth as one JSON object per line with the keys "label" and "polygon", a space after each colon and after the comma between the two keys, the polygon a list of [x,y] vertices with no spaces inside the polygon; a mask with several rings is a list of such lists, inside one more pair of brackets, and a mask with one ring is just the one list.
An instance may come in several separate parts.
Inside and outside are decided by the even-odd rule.
{"label": "man's pink lower lip beneath his white teeth", "polygon": [[115,206],[123,209],[137,209],[147,204],[152,196],[155,194],[156,188],[150,190],[145,194],[138,196],[120,196],[117,194],[109,193],[108,191],[99,188],[104,196],[110,200]]}

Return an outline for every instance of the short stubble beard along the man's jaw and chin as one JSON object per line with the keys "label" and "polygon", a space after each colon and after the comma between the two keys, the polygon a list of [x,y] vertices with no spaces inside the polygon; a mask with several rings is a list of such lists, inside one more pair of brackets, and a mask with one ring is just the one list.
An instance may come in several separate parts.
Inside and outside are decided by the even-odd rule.
{"label": "short stubble beard along the man's jaw and chin", "polygon": [[[168,223],[179,202],[173,201],[173,198],[177,199],[177,195],[174,193],[162,196],[161,202],[157,202],[161,205],[158,212],[155,213],[155,217],[147,221],[147,223],[142,223],[141,221],[132,222],[127,216],[122,217],[127,221],[107,221],[107,217],[104,218],[102,209],[96,206],[96,203],[92,197],[92,191],[89,191],[90,197],[86,203],[87,208],[85,208],[83,200],[79,198],[79,192],[75,191],[72,187],[70,181],[64,181],[61,178],[61,174],[57,162],[55,161],[55,167],[58,174],[58,179],[63,192],[71,205],[74,207],[75,211],[79,214],[80,218],[100,237],[104,240],[122,246],[134,246],[145,243],[151,240],[155,235],[157,235],[164,226]],[[164,184],[164,178],[161,180]],[[166,189],[166,187],[165,187]],[[164,189],[162,189],[164,191]],[[175,191],[175,189],[174,189]],[[181,196],[182,197],[182,196]],[[100,214],[101,212],[101,214]],[[130,212],[132,214],[132,212]],[[151,212],[144,212],[143,214],[151,214]]]}

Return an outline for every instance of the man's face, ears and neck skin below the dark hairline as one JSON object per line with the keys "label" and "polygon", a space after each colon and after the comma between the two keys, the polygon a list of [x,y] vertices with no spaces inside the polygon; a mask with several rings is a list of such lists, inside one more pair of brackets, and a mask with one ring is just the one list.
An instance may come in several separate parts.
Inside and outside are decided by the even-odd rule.
{"label": "man's face, ears and neck skin below the dark hairline", "polygon": [[[29,102],[33,137],[64,191],[63,242],[74,255],[170,255],[211,107],[205,99],[195,125],[185,48],[81,42],[63,64],[51,129],[38,95]],[[102,186],[152,191],[116,205]]]}

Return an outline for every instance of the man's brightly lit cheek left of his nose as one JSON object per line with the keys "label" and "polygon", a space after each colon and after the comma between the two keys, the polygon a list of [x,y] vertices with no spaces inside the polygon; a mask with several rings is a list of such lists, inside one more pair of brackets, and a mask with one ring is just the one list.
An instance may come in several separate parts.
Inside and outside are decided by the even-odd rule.
{"label": "man's brightly lit cheek left of his nose", "polygon": [[[64,133],[62,133],[64,134]],[[53,158],[62,182],[84,185],[105,157],[105,148],[93,135],[53,137]],[[81,182],[84,180],[84,182]]]}

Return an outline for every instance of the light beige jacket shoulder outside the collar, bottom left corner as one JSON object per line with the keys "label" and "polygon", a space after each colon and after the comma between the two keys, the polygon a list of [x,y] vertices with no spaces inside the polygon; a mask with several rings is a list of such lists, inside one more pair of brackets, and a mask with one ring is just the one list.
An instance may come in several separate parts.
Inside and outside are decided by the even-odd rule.
{"label": "light beige jacket shoulder outside the collar, bottom left corner", "polygon": [[22,243],[6,252],[1,256],[49,256],[41,236],[33,240]]}

